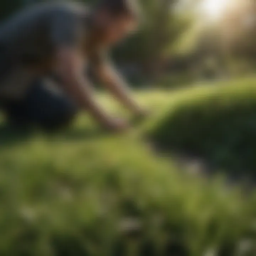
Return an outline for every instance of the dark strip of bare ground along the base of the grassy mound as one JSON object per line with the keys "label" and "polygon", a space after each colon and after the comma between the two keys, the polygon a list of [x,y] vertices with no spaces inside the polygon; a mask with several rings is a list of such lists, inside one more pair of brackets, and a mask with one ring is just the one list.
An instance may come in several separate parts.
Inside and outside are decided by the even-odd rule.
{"label": "dark strip of bare ground along the base of the grassy mound", "polygon": [[253,159],[250,165],[246,165],[242,153],[241,158],[235,155],[231,159],[224,158],[222,161],[217,161],[218,159],[214,159],[212,155],[195,154],[192,150],[159,144],[153,139],[150,140],[150,144],[157,156],[170,158],[179,170],[188,174],[205,178],[221,177],[228,185],[244,185],[248,191],[256,186],[255,170],[251,167],[255,165],[255,161]]}

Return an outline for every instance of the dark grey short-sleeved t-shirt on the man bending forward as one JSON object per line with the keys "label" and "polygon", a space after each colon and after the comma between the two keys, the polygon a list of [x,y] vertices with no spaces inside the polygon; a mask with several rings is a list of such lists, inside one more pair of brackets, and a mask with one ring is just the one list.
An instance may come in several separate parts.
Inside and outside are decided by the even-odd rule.
{"label": "dark grey short-sleeved t-shirt on the man bending forward", "polygon": [[[1,88],[12,92],[23,88],[25,85],[16,84],[22,76],[29,81],[30,76],[49,71],[57,47],[84,44],[89,17],[90,11],[82,4],[55,2],[34,5],[3,23],[0,26],[0,96]],[[89,52],[88,57],[96,56],[99,61],[97,49],[91,51],[94,54]]]}

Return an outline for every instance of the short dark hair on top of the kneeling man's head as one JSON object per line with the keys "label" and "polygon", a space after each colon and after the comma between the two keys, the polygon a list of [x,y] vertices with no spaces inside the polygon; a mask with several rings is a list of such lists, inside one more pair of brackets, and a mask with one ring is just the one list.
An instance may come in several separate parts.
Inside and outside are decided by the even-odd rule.
{"label": "short dark hair on top of the kneeling man's head", "polygon": [[140,16],[137,0],[101,0],[100,7],[114,16],[126,15],[136,19]]}

